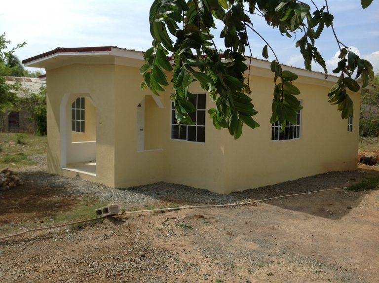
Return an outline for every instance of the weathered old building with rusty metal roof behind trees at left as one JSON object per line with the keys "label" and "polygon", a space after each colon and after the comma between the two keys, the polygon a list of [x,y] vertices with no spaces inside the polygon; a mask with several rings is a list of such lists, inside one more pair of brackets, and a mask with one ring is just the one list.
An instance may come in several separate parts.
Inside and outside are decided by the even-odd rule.
{"label": "weathered old building with rusty metal roof behind trees at left", "polygon": [[46,86],[46,81],[39,78],[14,76],[7,76],[5,80],[8,84],[19,84],[16,93],[24,100],[5,119],[4,132],[35,133],[36,123],[32,119],[32,111],[26,99],[32,93],[38,93],[40,87]]}

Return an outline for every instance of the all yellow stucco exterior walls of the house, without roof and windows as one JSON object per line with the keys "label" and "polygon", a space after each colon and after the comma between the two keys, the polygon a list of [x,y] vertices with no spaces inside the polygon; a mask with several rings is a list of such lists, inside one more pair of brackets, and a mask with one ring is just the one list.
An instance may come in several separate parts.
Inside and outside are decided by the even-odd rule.
{"label": "all yellow stucco exterior walls of the house, without roof and windows", "polygon": [[[96,106],[95,181],[128,187],[166,181],[228,193],[336,170],[356,168],[359,94],[354,101],[353,132],[336,106],[327,102],[330,86],[300,78],[296,85],[303,101],[301,138],[271,141],[269,123],[272,78],[252,75],[251,95],[261,127],[243,128],[239,140],[216,130],[206,115],[205,143],[170,139],[171,86],[154,101],[140,89],[138,68],[119,65],[71,65],[48,70],[48,166],[61,174],[60,103],[68,97],[91,97]],[[170,78],[168,79],[170,80]],[[325,82],[323,82],[325,84]],[[191,92],[204,92],[199,85]],[[137,151],[137,106],[145,99],[145,150]],[[214,106],[209,96],[206,108]],[[70,113],[70,112],[68,112]],[[68,133],[71,124],[67,126]],[[71,137],[71,135],[70,135]]]}

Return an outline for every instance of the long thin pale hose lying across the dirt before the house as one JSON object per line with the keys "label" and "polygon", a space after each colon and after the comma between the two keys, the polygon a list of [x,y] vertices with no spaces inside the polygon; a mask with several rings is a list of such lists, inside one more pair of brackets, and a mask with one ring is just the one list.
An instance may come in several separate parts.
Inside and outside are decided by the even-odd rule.
{"label": "long thin pale hose lying across the dirt before the house", "polygon": [[[231,206],[243,206],[243,205],[250,205],[250,204],[265,202],[265,201],[274,200],[274,199],[294,197],[294,196],[300,196],[300,195],[307,195],[307,194],[318,193],[318,192],[326,192],[326,191],[332,191],[332,190],[342,190],[342,189],[345,189],[345,188],[346,187],[317,190],[317,191],[311,191],[311,192],[306,192],[306,193],[283,195],[283,196],[277,196],[277,197],[266,198],[266,199],[262,199],[262,200],[255,200],[255,201],[250,201],[250,202],[243,202],[243,203],[231,203],[231,204],[224,204],[224,205],[185,206],[185,207],[178,207],[178,208],[164,208],[164,209],[140,210],[140,211],[132,211],[132,212],[119,212],[117,214],[113,214],[113,215],[110,215],[110,216],[120,215],[120,214],[144,213],[144,212],[161,212],[161,211],[174,211],[174,210],[177,211],[177,210],[184,210],[184,209],[222,208],[222,207],[231,207]],[[8,236],[0,237],[0,240],[11,238],[11,237],[20,236],[20,235],[28,233],[28,232],[39,231],[39,230],[46,230],[46,229],[53,229],[53,228],[59,228],[59,227],[63,227],[63,226],[69,226],[69,225],[74,225],[74,224],[78,224],[78,223],[84,223],[84,222],[89,222],[89,221],[93,221],[93,220],[99,220],[99,219],[102,219],[102,218],[105,218],[105,217],[108,217],[108,216],[106,215],[106,216],[101,216],[101,217],[96,217],[96,218],[91,218],[91,219],[86,219],[86,220],[80,220],[80,221],[75,221],[75,222],[70,222],[70,223],[55,225],[55,226],[47,226],[47,227],[41,227],[41,228],[34,228],[34,229],[30,229],[30,230],[25,230],[25,231],[17,233],[17,234],[12,234],[12,235],[8,235]]]}

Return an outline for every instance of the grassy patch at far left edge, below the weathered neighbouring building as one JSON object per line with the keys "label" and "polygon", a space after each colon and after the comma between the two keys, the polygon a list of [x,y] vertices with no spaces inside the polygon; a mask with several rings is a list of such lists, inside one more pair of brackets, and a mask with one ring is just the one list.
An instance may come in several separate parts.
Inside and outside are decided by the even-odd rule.
{"label": "grassy patch at far left edge, below the weathered neighbouring building", "polygon": [[29,157],[34,154],[46,153],[46,136],[32,134],[1,133],[0,134],[0,170],[22,168],[35,164]]}

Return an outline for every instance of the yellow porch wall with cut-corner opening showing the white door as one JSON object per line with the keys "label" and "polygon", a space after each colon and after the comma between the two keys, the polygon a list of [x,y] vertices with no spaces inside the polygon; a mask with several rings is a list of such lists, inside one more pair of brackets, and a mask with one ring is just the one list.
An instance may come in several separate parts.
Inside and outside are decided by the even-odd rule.
{"label": "yellow porch wall with cut-corner opening showing the white door", "polygon": [[[115,186],[127,187],[163,180],[161,149],[164,112],[149,89],[142,91],[138,68],[116,66],[115,79]],[[137,151],[137,106],[145,97],[145,149]]]}

